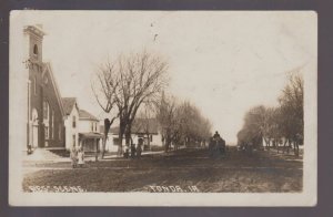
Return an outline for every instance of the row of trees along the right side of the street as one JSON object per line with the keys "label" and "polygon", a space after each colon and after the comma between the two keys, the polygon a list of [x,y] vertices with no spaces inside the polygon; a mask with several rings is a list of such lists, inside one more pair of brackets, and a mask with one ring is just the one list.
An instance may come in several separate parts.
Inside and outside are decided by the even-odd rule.
{"label": "row of trees along the right side of the street", "polygon": [[278,148],[282,145],[283,153],[293,147],[299,156],[299,145],[303,144],[303,85],[300,73],[290,74],[289,82],[282,90],[279,106],[252,107],[244,116],[244,125],[238,133],[238,143],[241,147],[260,148],[262,143],[266,147]]}

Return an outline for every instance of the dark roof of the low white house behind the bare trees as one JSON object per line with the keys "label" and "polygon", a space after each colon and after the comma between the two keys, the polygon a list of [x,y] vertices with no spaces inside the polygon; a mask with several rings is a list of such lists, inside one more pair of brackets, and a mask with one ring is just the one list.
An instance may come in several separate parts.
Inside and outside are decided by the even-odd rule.
{"label": "dark roof of the low white house behind the bare trees", "polygon": [[[103,133],[104,127],[100,127]],[[119,126],[113,126],[109,131],[112,134],[119,133]],[[158,134],[159,122],[157,118],[135,118],[132,125],[132,134]]]}

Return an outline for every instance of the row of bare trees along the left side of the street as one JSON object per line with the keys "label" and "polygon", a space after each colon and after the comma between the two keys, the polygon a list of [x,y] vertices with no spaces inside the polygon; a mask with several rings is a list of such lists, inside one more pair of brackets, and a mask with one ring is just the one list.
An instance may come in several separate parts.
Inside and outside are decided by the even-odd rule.
{"label": "row of bare trees along the left side of the street", "polygon": [[[194,105],[162,96],[168,82],[168,62],[147,51],[119,55],[99,65],[91,87],[100,107],[112,116],[104,121],[104,138],[113,122],[119,120],[119,155],[123,152],[123,136],[125,145],[131,144],[132,124],[142,105],[154,107],[165,151],[171,143],[203,141],[209,136],[211,125]],[[102,157],[104,149],[105,140]]]}

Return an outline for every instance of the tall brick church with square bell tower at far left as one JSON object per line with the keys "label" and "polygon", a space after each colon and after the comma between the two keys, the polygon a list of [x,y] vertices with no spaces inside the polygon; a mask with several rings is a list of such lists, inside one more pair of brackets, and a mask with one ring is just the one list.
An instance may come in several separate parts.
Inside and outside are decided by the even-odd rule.
{"label": "tall brick church with square bell tower at far left", "polygon": [[42,60],[41,27],[24,27],[28,71],[27,147],[64,147],[64,108],[50,63]]}

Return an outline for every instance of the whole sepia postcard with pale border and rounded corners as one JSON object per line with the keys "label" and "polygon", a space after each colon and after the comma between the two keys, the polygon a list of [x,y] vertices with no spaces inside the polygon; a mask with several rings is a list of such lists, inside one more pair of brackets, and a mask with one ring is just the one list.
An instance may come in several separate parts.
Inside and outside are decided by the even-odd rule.
{"label": "whole sepia postcard with pale border and rounded corners", "polygon": [[315,206],[314,11],[10,13],[11,206]]}

